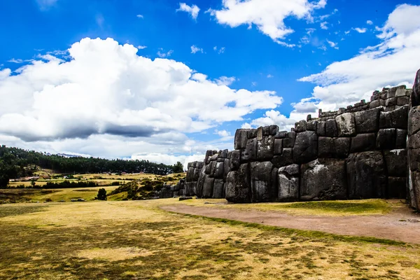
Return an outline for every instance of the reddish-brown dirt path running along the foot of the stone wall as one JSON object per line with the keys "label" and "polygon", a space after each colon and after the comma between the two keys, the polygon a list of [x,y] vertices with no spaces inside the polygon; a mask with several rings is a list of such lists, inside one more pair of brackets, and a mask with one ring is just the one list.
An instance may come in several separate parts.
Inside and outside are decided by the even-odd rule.
{"label": "reddish-brown dirt path running along the foot of the stone wall", "polygon": [[298,230],[318,230],[338,235],[357,235],[393,239],[420,244],[420,216],[409,209],[398,209],[386,215],[374,216],[292,216],[278,211],[255,209],[222,209],[216,207],[193,207],[169,205],[167,211],[193,214],[212,218],[228,218],[249,223],[275,225]]}

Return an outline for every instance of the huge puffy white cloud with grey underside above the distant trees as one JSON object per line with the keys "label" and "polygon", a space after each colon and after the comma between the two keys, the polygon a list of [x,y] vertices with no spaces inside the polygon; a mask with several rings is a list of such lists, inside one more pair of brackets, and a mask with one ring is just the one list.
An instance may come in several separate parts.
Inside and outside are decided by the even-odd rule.
{"label": "huge puffy white cloud with grey underside above the distant trees", "polygon": [[1,70],[0,143],[106,158],[203,154],[231,149],[232,141],[195,141],[187,133],[282,102],[275,92],[234,90],[232,78],[221,83],[137,51],[111,38],[84,38],[69,48],[69,61],[51,55],[15,73]]}

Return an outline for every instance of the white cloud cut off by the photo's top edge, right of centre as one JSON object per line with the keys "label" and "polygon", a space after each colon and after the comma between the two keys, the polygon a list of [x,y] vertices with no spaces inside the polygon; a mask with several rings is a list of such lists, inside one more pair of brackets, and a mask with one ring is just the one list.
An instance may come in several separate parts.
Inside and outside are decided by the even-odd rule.
{"label": "white cloud cut off by the photo's top edge, right of centre", "polygon": [[311,20],[315,9],[324,8],[326,0],[309,2],[307,0],[223,0],[221,10],[208,10],[221,25],[239,27],[239,25],[255,25],[263,34],[276,43],[290,47],[293,44],[282,40],[293,29],[287,27],[284,20],[289,17]]}

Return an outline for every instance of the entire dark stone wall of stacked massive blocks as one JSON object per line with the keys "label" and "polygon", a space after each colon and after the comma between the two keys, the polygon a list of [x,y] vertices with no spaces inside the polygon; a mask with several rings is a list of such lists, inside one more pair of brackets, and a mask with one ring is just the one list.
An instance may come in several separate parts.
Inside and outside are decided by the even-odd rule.
{"label": "entire dark stone wall of stacked massive blocks", "polygon": [[[188,166],[184,195],[230,202],[406,199],[420,207],[420,71],[290,131],[240,129],[234,151],[207,151]],[[407,153],[408,151],[408,153]]]}

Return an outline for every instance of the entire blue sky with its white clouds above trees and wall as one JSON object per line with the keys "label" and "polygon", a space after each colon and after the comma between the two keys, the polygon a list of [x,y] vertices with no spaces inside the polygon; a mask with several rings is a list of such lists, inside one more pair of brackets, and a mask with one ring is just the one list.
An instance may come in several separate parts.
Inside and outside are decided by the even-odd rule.
{"label": "entire blue sky with its white clouds above trees and wall", "polygon": [[[165,163],[200,158],[207,148],[232,149],[237,128],[276,123],[288,129],[319,108],[337,109],[386,85],[409,85],[420,68],[418,55],[410,59],[420,48],[416,4],[419,1],[1,1],[0,36],[5,43],[0,94],[13,105],[0,106],[0,141],[52,153]],[[106,43],[106,38],[114,43]],[[75,43],[78,48],[71,52]],[[137,54],[124,44],[136,47]],[[148,69],[139,57],[156,63]],[[141,71],[132,69],[134,61]],[[77,76],[83,70],[82,81]],[[95,71],[109,78],[100,80]],[[191,85],[184,87],[187,82]],[[151,86],[156,84],[158,89]],[[131,95],[125,100],[127,90]],[[188,90],[192,92],[186,95]],[[240,90],[246,92],[234,97]],[[212,102],[212,91],[214,99],[224,103]],[[103,99],[125,102],[113,106],[102,104]],[[181,99],[197,103],[175,102]],[[95,100],[101,107],[96,108]],[[179,105],[178,111],[165,101]],[[71,112],[92,108],[95,113],[61,116],[59,112],[69,109],[67,102],[83,104],[71,105]],[[60,104],[57,110],[51,109],[53,104]],[[182,114],[192,104],[203,108]],[[121,113],[124,110],[130,112]],[[98,117],[102,115],[115,119]],[[146,121],[151,115],[146,125],[133,120]],[[165,126],[172,122],[172,127]]]}

